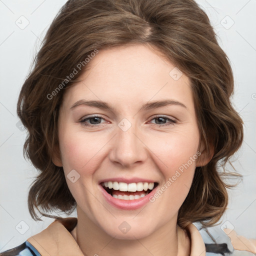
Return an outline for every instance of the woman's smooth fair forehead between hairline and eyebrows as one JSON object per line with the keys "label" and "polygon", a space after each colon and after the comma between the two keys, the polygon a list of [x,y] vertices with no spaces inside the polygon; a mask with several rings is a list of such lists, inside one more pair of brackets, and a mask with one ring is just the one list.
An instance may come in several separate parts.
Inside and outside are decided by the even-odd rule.
{"label": "woman's smooth fair forehead between hairline and eyebrows", "polygon": [[81,81],[66,91],[71,107],[80,99],[131,107],[150,100],[173,99],[193,104],[190,81],[162,53],[143,44],[102,49],[90,59]]}

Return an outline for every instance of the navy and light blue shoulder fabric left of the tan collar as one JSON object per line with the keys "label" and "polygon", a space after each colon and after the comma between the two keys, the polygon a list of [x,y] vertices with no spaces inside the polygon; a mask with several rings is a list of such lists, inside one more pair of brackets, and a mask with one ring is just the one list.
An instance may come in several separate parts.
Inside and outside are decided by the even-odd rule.
{"label": "navy and light blue shoulder fabric left of the tan collar", "polygon": [[41,254],[31,243],[25,241],[14,248],[0,252],[0,256],[41,256]]}

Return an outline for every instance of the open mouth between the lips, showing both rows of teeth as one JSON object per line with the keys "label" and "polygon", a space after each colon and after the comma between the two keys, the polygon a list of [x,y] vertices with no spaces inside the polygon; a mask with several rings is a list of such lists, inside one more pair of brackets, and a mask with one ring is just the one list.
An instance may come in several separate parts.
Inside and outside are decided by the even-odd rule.
{"label": "open mouth between the lips, showing both rows of teeth", "polygon": [[134,200],[144,197],[149,194],[157,185],[157,182],[117,182],[106,181],[101,182],[100,185],[112,197],[122,200]]}

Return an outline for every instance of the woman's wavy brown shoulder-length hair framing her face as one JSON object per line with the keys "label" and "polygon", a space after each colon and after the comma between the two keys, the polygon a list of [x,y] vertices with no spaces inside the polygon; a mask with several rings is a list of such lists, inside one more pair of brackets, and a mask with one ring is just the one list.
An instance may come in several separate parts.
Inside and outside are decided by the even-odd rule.
{"label": "woman's wavy brown shoulder-length hair framing her face", "polygon": [[[47,30],[17,102],[27,129],[23,154],[39,171],[28,194],[34,220],[41,220],[36,210],[57,218],[51,212],[70,214],[76,206],[63,168],[52,162],[63,93],[88,69],[84,59],[92,52],[137,43],[159,50],[189,77],[200,140],[206,152],[210,145],[214,150],[209,163],[195,169],[178,224],[210,226],[225,211],[232,185],[222,176],[239,174],[220,170],[218,164],[225,166],[240,147],[243,126],[230,102],[234,85],[229,60],[205,12],[193,0],[69,0]],[[83,63],[79,70],[78,63]],[[71,79],[74,68],[79,72]]]}

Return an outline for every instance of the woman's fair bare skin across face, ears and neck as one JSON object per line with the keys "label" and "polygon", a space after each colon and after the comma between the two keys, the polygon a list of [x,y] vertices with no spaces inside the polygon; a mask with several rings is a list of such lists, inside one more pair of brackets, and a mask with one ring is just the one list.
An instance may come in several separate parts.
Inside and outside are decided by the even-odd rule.
{"label": "woman's fair bare skin across face, ears and neck", "polygon": [[[182,74],[174,80],[169,75],[174,65],[142,44],[99,50],[89,67],[81,81],[64,94],[58,118],[58,154],[52,158],[55,165],[63,166],[77,202],[75,238],[87,255],[176,255],[178,209],[189,191],[195,167],[209,161],[199,145],[189,79]],[[114,110],[86,105],[70,109],[80,99],[105,101]],[[165,99],[185,107],[172,104],[139,111],[148,101]],[[85,122],[93,127],[79,122],[91,115],[104,119]],[[123,118],[131,124],[125,132],[118,126]],[[99,189],[100,179],[113,177],[149,178],[164,184],[198,150],[200,157],[145,207],[115,208]],[[72,169],[80,175],[74,183],[67,178]],[[131,227],[125,234],[118,228],[123,221]],[[182,246],[188,255],[188,238]]]}

